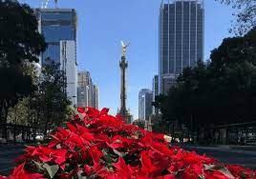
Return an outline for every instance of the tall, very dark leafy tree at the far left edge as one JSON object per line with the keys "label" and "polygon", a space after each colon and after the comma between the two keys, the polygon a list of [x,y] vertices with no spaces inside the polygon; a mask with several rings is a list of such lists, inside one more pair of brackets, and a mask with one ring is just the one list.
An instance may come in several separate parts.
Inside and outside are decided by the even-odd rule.
{"label": "tall, very dark leafy tree at the far left edge", "polygon": [[[0,122],[6,124],[8,111],[36,87],[26,67],[38,62],[46,49],[37,29],[33,10],[27,5],[0,1]],[[6,137],[6,129],[3,129]]]}

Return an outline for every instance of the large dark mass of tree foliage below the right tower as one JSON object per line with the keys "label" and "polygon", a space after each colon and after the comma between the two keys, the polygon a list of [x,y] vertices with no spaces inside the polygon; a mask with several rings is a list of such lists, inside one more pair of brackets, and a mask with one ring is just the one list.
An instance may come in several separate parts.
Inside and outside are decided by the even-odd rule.
{"label": "large dark mass of tree foliage below the right tower", "polygon": [[210,58],[184,69],[168,95],[157,97],[154,105],[163,119],[179,120],[194,130],[255,120],[256,28],[224,39]]}

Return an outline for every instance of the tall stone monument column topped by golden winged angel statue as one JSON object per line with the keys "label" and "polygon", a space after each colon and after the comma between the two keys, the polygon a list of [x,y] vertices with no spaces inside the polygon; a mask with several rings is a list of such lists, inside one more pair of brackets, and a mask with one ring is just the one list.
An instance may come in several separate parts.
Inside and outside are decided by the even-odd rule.
{"label": "tall stone monument column topped by golden winged angel statue", "polygon": [[126,61],[126,50],[129,44],[125,45],[123,42],[121,42],[122,46],[122,55],[121,55],[121,61],[119,62],[119,67],[121,70],[121,87],[120,87],[120,108],[118,110],[118,114],[122,116],[122,118],[125,120],[126,123],[130,124],[132,115],[130,112],[126,109],[126,71],[128,68],[128,62]]}

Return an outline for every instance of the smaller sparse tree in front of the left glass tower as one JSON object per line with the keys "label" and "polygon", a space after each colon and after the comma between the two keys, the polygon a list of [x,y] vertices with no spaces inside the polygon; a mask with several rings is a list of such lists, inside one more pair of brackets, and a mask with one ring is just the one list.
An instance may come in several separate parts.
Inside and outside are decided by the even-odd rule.
{"label": "smaller sparse tree in front of the left glass tower", "polygon": [[68,113],[72,112],[71,105],[66,94],[66,77],[59,64],[51,59],[46,59],[42,68],[39,90],[34,97],[34,107],[39,110],[40,125],[44,133],[67,121]]}

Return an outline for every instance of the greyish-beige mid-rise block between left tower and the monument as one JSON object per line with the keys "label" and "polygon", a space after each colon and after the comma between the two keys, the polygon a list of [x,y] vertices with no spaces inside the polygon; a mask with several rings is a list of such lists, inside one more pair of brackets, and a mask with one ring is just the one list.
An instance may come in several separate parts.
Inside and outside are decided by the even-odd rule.
{"label": "greyish-beige mid-rise block between left tower and the monument", "polygon": [[93,83],[90,72],[78,72],[77,79],[77,106],[98,109],[98,88]]}

